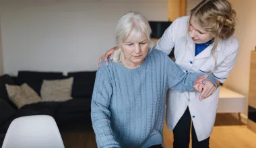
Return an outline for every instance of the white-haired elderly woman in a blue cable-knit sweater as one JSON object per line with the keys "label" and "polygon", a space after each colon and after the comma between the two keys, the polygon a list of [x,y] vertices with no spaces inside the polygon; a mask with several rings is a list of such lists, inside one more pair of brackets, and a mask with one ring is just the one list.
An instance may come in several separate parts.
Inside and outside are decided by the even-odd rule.
{"label": "white-haired elderly woman in a blue cable-knit sweater", "polygon": [[[129,12],[117,24],[117,49],[102,61],[92,96],[92,125],[98,147],[161,147],[167,89],[194,91],[199,73],[184,73],[160,50],[150,48],[143,15]],[[205,79],[206,78],[206,79]],[[202,77],[203,89],[216,86]]]}

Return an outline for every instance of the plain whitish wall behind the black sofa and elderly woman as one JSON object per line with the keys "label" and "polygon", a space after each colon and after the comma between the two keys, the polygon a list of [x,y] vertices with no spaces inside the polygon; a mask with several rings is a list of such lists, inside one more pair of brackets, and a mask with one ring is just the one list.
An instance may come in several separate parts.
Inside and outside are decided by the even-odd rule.
{"label": "plain whitish wall behind the black sofa and elderly woman", "polygon": [[0,0],[4,72],[96,70],[130,10],[168,20],[168,0]]}

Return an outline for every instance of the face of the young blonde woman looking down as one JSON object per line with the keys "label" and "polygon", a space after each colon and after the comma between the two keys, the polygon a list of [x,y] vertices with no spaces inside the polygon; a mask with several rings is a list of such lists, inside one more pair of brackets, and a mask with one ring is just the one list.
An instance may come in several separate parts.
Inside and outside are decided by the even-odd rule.
{"label": "face of the young blonde woman looking down", "polygon": [[213,36],[210,35],[209,32],[199,27],[197,22],[195,22],[195,19],[193,16],[191,17],[190,24],[189,24],[189,36],[197,44],[208,42],[209,40],[212,40],[212,38],[214,38]]}

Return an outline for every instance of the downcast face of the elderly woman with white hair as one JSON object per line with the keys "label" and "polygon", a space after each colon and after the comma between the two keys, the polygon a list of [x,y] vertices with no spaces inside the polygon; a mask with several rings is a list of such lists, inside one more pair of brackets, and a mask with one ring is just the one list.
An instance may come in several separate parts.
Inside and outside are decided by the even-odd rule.
{"label": "downcast face of the elderly woman with white hair", "polygon": [[[136,38],[137,37],[137,38]],[[127,68],[135,69],[143,63],[148,54],[149,41],[146,34],[139,36],[127,36],[125,42],[121,44],[123,49],[123,65]]]}

